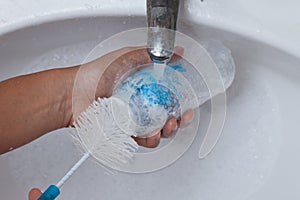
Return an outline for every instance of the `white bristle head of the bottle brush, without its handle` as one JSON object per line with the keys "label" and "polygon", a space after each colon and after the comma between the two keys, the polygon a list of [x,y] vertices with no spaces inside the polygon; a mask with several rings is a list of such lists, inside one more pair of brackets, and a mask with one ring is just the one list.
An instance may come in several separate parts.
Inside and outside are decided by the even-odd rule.
{"label": "white bristle head of the bottle brush, without its handle", "polygon": [[74,123],[75,139],[102,167],[119,169],[132,159],[138,145],[118,127],[112,101],[98,98],[79,116]]}

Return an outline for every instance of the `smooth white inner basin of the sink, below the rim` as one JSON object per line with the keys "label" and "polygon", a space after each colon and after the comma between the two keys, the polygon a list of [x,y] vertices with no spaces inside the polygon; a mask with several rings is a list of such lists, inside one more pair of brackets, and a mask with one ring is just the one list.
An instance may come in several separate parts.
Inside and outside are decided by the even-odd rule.
{"label": "smooth white inner basin of the sink, below the rim", "polygon": [[[145,24],[143,16],[28,23],[0,36],[0,80],[79,64],[99,42]],[[91,160],[64,185],[61,199],[299,199],[300,58],[270,42],[188,17],[181,19],[179,31],[197,41],[222,41],[235,60],[226,121],[214,150],[205,159],[198,158],[210,119],[207,103],[200,108],[196,140],[172,165],[153,173],[107,175]],[[68,129],[2,155],[1,198],[25,199],[30,188],[45,189],[80,156]]]}

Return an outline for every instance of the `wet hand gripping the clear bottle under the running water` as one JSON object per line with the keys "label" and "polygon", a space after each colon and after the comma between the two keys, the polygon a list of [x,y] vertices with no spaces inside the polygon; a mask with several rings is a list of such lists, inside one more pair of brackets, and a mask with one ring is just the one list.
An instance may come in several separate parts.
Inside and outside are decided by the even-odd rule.
{"label": "wet hand gripping the clear bottle under the running water", "polygon": [[[183,51],[183,48],[176,47],[171,62],[181,59]],[[124,74],[138,66],[151,63],[152,61],[145,47],[130,47],[114,51],[82,65],[77,71],[74,83],[73,98],[76,101],[73,101],[73,117],[70,123],[72,124],[73,120],[97,97],[110,97],[117,85],[116,82]],[[161,137],[173,136],[179,126],[182,128],[187,126],[193,120],[193,117],[194,112],[188,110],[181,116],[181,119],[169,119],[162,130],[149,134],[146,138],[133,138],[141,146],[155,148],[158,146]]]}

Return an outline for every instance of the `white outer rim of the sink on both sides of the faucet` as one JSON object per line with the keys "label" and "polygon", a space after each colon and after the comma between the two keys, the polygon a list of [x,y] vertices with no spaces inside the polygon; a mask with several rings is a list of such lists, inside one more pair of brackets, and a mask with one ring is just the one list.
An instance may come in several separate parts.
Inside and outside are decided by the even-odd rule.
{"label": "white outer rim of the sink on both sides of the faucet", "polygon": [[[276,41],[277,46],[300,56],[300,1],[185,0],[183,4],[184,12],[201,23]],[[41,18],[145,12],[146,0],[1,0],[0,35]]]}

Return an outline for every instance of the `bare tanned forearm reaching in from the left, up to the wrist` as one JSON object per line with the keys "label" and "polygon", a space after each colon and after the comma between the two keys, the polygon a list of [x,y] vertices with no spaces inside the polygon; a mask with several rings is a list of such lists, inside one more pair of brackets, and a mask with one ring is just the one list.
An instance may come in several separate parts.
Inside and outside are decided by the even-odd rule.
{"label": "bare tanned forearm reaching in from the left, up to the wrist", "polygon": [[0,154],[69,125],[76,71],[55,69],[0,83]]}

